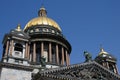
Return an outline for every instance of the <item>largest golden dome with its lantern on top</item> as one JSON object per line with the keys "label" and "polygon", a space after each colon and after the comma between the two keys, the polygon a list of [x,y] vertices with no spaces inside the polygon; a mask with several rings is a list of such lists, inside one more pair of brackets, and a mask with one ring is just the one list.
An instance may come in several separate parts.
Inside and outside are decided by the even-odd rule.
{"label": "largest golden dome with its lantern on top", "polygon": [[40,11],[38,12],[38,17],[30,20],[26,24],[24,30],[37,25],[48,25],[61,31],[61,28],[59,27],[59,25],[54,20],[48,18],[46,14],[47,12],[45,8],[44,7],[40,8]]}

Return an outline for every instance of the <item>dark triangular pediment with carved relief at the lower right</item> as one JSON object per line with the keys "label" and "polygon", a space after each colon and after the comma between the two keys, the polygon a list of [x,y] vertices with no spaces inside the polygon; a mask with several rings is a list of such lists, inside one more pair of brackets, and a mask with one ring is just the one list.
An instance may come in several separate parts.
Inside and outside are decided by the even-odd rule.
{"label": "dark triangular pediment with carved relief at the lower right", "polygon": [[43,77],[46,78],[45,80],[120,80],[119,75],[95,61],[41,71],[34,76],[37,80],[41,80]]}

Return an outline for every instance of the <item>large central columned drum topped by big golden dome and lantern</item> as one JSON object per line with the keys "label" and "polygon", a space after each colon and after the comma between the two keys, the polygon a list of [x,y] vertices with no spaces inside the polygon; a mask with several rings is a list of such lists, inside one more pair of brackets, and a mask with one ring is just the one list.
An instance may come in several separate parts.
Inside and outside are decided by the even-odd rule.
{"label": "large central columned drum topped by big golden dome and lantern", "polygon": [[47,17],[44,7],[38,11],[38,17],[26,24],[24,32],[30,36],[31,63],[40,64],[41,57],[45,57],[48,67],[70,65],[71,45],[63,36],[60,26]]}

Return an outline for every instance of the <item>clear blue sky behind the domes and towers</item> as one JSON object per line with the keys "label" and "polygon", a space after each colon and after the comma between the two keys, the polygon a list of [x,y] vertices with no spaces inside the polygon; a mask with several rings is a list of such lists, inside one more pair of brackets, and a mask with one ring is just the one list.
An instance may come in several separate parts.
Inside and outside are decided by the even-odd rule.
{"label": "clear blue sky behind the domes and towers", "polygon": [[102,45],[120,71],[120,0],[0,0],[0,42],[18,23],[23,29],[37,17],[42,4],[72,46],[71,64],[84,62],[86,50],[94,59]]}

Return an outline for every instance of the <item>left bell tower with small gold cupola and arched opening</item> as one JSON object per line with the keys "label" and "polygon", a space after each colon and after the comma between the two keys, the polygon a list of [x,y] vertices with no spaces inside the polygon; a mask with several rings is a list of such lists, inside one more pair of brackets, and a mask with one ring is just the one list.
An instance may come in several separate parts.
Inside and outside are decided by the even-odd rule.
{"label": "left bell tower with small gold cupola and arched opening", "polygon": [[28,64],[29,36],[21,30],[20,24],[3,39],[2,61],[13,64]]}

